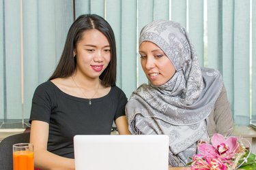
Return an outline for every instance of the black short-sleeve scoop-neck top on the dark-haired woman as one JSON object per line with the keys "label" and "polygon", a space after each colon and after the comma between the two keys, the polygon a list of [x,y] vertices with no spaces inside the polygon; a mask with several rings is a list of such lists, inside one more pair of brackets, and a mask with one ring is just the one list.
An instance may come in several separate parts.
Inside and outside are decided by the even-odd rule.
{"label": "black short-sleeve scoop-neck top on the dark-haired woman", "polygon": [[49,124],[47,150],[74,158],[74,135],[109,135],[113,121],[125,115],[127,97],[117,86],[97,99],[74,97],[47,81],[35,89],[29,122]]}

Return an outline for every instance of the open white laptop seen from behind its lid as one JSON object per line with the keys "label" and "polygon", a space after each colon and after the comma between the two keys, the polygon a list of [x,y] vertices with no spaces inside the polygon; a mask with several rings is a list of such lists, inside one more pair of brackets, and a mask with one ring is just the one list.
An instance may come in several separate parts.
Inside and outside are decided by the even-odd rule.
{"label": "open white laptop seen from behind its lid", "polygon": [[167,135],[76,135],[76,170],[168,170]]}

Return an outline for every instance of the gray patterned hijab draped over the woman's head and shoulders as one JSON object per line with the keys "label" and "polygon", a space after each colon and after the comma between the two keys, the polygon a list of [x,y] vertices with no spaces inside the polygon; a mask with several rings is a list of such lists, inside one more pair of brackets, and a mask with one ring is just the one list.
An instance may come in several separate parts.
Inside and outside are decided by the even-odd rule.
{"label": "gray patterned hijab draped over the woman's head and shoulders", "polygon": [[151,41],[171,60],[175,74],[161,86],[142,84],[127,105],[132,134],[169,135],[169,164],[181,167],[197,152],[197,141],[208,140],[207,118],[223,86],[221,73],[199,66],[186,29],[169,20],[143,27],[139,44]]}

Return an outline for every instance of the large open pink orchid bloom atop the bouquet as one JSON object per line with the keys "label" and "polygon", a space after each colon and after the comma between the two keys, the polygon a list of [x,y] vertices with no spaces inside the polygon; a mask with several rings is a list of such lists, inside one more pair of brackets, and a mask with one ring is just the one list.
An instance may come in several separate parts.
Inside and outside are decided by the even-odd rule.
{"label": "large open pink orchid bloom atop the bouquet", "polygon": [[198,150],[201,154],[209,158],[228,160],[235,156],[238,147],[238,137],[228,137],[225,139],[223,135],[215,133],[212,136],[212,146],[208,143],[202,143],[199,144]]}

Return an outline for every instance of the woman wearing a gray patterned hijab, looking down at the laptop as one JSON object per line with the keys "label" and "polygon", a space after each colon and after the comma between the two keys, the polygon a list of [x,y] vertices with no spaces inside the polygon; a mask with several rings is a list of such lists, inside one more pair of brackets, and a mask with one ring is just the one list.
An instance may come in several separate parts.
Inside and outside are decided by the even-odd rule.
{"label": "woman wearing a gray patterned hijab, looking down at the laptop", "polygon": [[199,141],[233,131],[223,78],[200,67],[186,29],[169,20],[143,27],[141,66],[148,84],[135,90],[126,105],[129,129],[137,135],[169,135],[169,165],[184,167]]}

